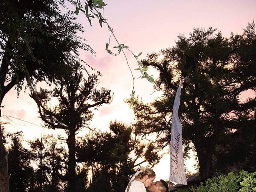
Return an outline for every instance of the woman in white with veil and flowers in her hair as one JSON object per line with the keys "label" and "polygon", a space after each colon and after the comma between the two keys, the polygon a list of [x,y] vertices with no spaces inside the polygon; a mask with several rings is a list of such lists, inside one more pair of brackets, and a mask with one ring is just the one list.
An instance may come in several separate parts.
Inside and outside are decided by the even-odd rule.
{"label": "woman in white with veil and flowers in her hair", "polygon": [[146,187],[152,184],[156,174],[152,169],[141,168],[130,180],[125,192],[146,192]]}

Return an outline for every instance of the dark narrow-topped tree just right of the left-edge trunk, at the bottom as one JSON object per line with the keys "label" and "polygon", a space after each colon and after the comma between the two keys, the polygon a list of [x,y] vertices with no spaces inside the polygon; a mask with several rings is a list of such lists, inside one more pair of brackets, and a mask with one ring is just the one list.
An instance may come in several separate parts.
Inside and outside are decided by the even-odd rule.
{"label": "dark narrow-topped tree just right of the left-edge trunk, at the bottom", "polygon": [[34,169],[31,166],[31,153],[22,146],[23,134],[10,134],[12,144],[8,150],[8,172],[11,192],[32,192],[34,189]]}

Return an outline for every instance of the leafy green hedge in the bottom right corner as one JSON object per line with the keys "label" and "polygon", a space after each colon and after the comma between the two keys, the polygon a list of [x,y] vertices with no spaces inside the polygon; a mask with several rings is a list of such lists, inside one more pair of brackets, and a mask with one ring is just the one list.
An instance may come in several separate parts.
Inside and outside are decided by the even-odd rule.
{"label": "leafy green hedge in the bottom right corner", "polygon": [[242,170],[238,174],[230,172],[200,183],[198,187],[181,189],[178,192],[256,192],[256,172]]}

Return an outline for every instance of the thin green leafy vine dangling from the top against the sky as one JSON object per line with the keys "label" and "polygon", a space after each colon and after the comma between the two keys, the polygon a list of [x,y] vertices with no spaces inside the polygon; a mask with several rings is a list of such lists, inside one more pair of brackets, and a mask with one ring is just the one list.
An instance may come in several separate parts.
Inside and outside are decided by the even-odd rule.
{"label": "thin green leafy vine dangling from the top against the sky", "polygon": [[[110,27],[110,25],[107,22],[107,18],[105,18],[105,14],[104,14],[104,7],[106,6],[106,4],[102,1],[102,0],[86,0],[86,2],[84,3],[84,5],[81,4],[80,0],[77,0],[76,2],[76,15],[78,15],[78,13],[80,11],[82,11],[86,17],[88,18],[88,21],[90,23],[90,25],[92,26],[92,18],[98,18],[98,21],[100,23],[100,26],[102,27],[102,23],[105,23],[108,26],[108,30],[110,31],[110,37],[108,42],[106,43],[106,51],[113,55],[113,56],[117,56],[119,55],[121,52],[122,54],[124,54],[124,57],[126,59],[126,64],[128,65],[130,72],[132,74],[132,94],[131,94],[131,102],[133,103],[135,100],[134,94],[135,94],[135,89],[134,89],[134,80],[138,79],[138,78],[146,78],[149,82],[154,83],[154,78],[152,77],[152,75],[149,75],[147,73],[148,67],[144,66],[142,64],[142,62],[140,62],[138,60],[139,56],[142,54],[142,52],[140,52],[138,55],[134,54],[128,46],[125,46],[124,44],[120,44],[114,34],[113,28]],[[110,38],[114,37],[116,43],[118,44],[118,46],[114,46],[113,48],[117,50],[117,53],[112,52],[112,50],[110,50],[109,45],[110,45]],[[130,65],[128,63],[126,54],[124,53],[124,49],[128,50],[131,54],[133,54],[134,58],[136,59],[136,62],[138,64],[138,68],[136,70],[140,71],[140,76],[138,78],[135,78],[132,70],[130,68]]]}

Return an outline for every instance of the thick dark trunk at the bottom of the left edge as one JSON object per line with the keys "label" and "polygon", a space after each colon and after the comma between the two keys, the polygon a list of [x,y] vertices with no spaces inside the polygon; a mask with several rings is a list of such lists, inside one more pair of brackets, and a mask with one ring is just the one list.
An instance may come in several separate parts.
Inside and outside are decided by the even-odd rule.
{"label": "thick dark trunk at the bottom of the left edge", "polygon": [[3,143],[0,123],[0,192],[9,192],[8,156]]}

